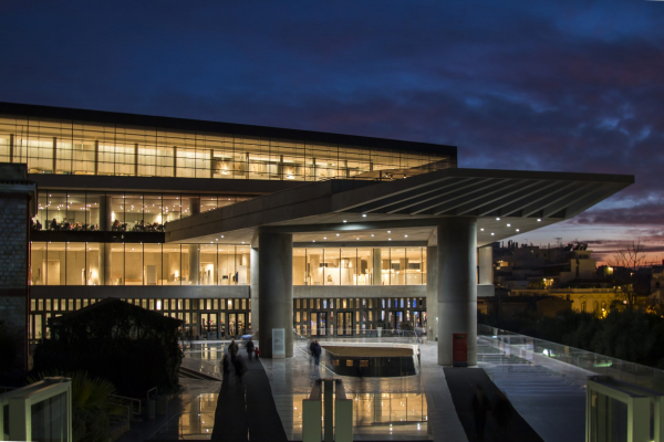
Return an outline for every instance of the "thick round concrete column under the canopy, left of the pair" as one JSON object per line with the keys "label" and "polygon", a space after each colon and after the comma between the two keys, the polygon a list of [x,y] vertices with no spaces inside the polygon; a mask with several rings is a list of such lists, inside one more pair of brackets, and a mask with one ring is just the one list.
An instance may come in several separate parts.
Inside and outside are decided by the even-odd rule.
{"label": "thick round concrete column under the canopy, left of the pair", "polygon": [[293,235],[258,233],[258,340],[272,357],[272,328],[286,332],[286,357],[293,356]]}

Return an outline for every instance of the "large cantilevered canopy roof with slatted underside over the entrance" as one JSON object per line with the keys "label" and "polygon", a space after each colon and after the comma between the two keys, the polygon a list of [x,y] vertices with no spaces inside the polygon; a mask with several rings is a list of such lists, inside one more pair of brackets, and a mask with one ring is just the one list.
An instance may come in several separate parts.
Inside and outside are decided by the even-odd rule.
{"label": "large cantilevered canopy roof with slatted underside over the entrance", "polygon": [[167,242],[249,244],[257,228],[320,246],[426,243],[446,217],[477,219],[478,246],[570,219],[633,176],[445,169],[393,181],[330,180],[200,213],[166,227]]}

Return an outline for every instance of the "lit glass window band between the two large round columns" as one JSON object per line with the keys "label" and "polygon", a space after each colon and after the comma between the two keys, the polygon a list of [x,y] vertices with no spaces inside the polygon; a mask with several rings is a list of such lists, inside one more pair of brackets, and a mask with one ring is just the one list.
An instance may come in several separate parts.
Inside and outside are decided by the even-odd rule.
{"label": "lit glass window band between the two large round columns", "polygon": [[293,285],[424,285],[426,248],[293,249]]}

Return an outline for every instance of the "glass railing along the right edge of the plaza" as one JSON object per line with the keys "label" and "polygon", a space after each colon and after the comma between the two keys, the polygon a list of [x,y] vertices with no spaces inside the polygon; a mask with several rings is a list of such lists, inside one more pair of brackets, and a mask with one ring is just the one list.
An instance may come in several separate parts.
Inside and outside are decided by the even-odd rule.
{"label": "glass railing along the right edge of the plaza", "polygon": [[623,382],[664,391],[664,370],[481,324],[477,326],[477,337],[526,359],[543,357],[580,368],[589,375],[609,376]]}

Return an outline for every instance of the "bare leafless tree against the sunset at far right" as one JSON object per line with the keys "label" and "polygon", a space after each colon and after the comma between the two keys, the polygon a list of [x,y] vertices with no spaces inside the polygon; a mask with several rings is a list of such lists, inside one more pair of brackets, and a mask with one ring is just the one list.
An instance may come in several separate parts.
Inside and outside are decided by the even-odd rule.
{"label": "bare leafless tree against the sunset at far right", "polygon": [[646,264],[645,246],[641,240],[616,250],[609,260],[618,284],[616,295],[630,309],[634,307],[636,298],[636,273]]}

